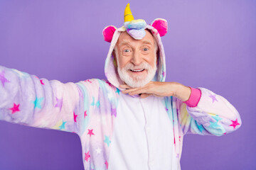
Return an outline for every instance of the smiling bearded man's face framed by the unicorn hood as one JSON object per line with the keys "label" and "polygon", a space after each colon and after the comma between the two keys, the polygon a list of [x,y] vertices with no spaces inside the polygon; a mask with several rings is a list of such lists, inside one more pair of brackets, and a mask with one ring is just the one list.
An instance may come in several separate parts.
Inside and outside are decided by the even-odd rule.
{"label": "smiling bearded man's face framed by the unicorn hood", "polygon": [[132,87],[144,86],[156,73],[154,38],[146,30],[142,40],[135,40],[127,32],[119,36],[113,52],[117,59],[119,77]]}

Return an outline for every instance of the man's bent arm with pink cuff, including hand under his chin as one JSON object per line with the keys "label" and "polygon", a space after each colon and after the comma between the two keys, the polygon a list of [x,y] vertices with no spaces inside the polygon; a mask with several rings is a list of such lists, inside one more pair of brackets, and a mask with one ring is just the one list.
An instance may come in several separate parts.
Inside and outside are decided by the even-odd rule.
{"label": "man's bent arm with pink cuff, including hand under his chin", "polygon": [[223,96],[208,89],[193,89],[176,82],[154,82],[146,86],[130,89],[124,94],[147,96],[175,96],[173,105],[178,113],[178,122],[183,135],[224,135],[240,128],[242,121],[238,111]]}

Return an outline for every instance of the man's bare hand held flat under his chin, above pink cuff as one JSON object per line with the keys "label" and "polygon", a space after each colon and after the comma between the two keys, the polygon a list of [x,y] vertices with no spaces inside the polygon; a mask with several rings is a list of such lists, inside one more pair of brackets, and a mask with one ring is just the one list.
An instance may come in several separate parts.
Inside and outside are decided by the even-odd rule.
{"label": "man's bare hand held flat under his chin, above pink cuff", "polygon": [[138,88],[132,88],[127,84],[122,84],[119,87],[126,89],[122,91],[123,94],[129,94],[131,96],[141,94],[141,98],[146,98],[152,95],[160,97],[175,96],[181,101],[187,101],[191,95],[191,89],[188,86],[184,86],[177,82],[150,81],[149,84]]}

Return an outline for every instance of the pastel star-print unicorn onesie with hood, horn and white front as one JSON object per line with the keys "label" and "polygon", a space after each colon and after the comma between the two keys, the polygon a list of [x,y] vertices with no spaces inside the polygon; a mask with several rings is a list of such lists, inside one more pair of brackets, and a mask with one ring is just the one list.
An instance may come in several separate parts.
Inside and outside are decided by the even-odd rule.
{"label": "pastel star-print unicorn onesie with hood, horn and white front", "polygon": [[154,81],[164,81],[166,63],[160,37],[167,32],[167,22],[157,18],[147,25],[144,20],[134,20],[128,4],[124,26],[103,30],[105,40],[111,42],[105,62],[107,80],[63,84],[0,66],[0,120],[76,133],[87,170],[181,169],[184,135],[221,136],[237,130],[242,122],[225,98],[204,88],[191,88],[186,102],[174,96],[122,94],[112,56],[114,45],[123,31],[141,40],[145,29],[159,46]]}

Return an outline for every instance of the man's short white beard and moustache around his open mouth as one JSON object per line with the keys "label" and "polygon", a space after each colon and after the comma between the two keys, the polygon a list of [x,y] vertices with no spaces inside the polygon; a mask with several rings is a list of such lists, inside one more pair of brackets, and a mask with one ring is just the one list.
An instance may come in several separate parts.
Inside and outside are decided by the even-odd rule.
{"label": "man's short white beard and moustache around his open mouth", "polygon": [[[144,75],[134,78],[130,77],[129,69],[145,69],[144,72],[147,70],[146,77]],[[118,67],[117,71],[120,79],[122,79],[122,81],[124,81],[128,86],[131,86],[132,88],[145,86],[154,78],[154,75],[156,74],[156,62],[154,62],[154,67],[151,67],[151,65],[147,62],[142,62],[142,64],[139,64],[139,66],[134,66],[132,63],[128,63],[122,69]]]}

